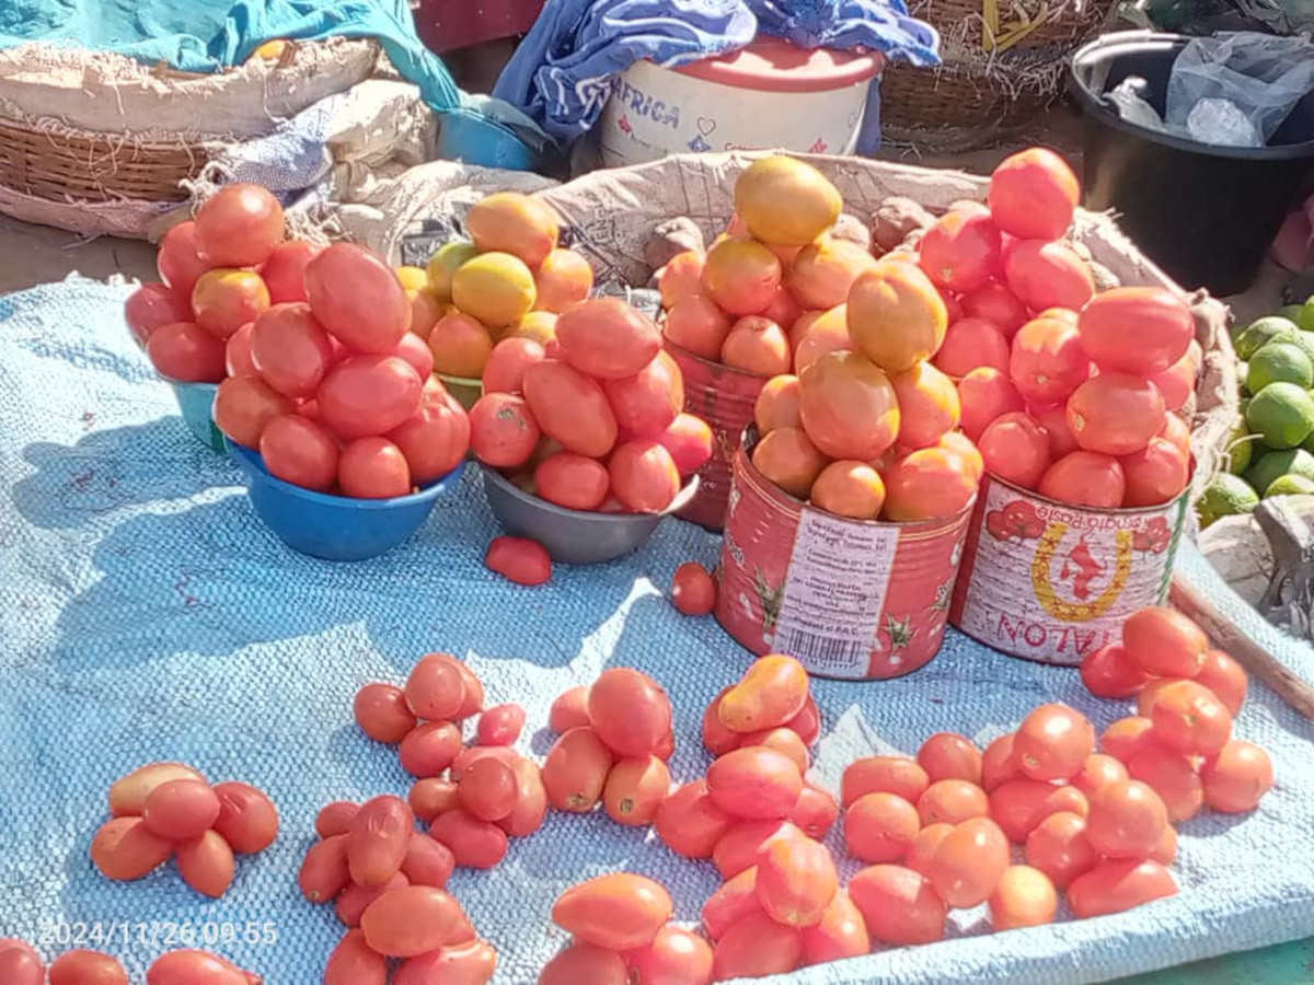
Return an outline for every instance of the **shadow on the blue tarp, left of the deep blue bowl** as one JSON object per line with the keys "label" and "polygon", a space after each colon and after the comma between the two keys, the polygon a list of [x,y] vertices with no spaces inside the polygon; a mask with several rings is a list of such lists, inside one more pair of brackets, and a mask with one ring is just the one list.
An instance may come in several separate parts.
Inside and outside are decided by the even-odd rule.
{"label": "shadow on the blue tarp, left of the deep blue bowl", "polygon": [[201,445],[177,415],[91,431],[74,445],[33,441],[22,457],[35,471],[14,483],[13,503],[43,529],[72,529],[125,507],[239,481],[231,461]]}

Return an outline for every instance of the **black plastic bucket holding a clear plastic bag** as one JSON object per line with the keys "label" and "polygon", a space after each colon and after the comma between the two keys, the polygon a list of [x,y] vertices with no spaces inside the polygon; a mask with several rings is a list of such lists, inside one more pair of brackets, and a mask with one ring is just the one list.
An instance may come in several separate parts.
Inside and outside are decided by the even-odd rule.
{"label": "black plastic bucket holding a clear plastic bag", "polygon": [[1181,286],[1239,294],[1314,176],[1314,93],[1268,147],[1214,147],[1125,122],[1105,93],[1141,76],[1163,116],[1172,64],[1188,41],[1120,32],[1072,56],[1070,89],[1085,118],[1085,206],[1118,213],[1122,230]]}

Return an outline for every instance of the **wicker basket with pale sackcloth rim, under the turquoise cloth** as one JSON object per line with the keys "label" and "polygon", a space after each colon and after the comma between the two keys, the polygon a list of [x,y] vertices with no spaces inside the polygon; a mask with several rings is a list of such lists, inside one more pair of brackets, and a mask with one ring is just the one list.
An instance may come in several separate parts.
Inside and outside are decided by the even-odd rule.
{"label": "wicker basket with pale sackcloth rim, under the turquoise cloth", "polygon": [[214,75],[38,45],[0,53],[0,213],[145,236],[213,154],[364,80],[376,60],[372,42],[338,39]]}

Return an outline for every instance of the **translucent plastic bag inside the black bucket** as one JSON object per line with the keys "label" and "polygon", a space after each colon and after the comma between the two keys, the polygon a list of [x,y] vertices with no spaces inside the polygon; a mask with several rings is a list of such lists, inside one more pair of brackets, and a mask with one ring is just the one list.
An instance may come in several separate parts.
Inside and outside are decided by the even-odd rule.
{"label": "translucent plastic bag inside the black bucket", "polygon": [[[1172,66],[1164,122],[1169,129],[1187,129],[1197,104],[1217,100],[1213,105],[1218,108],[1230,102],[1254,127],[1248,143],[1240,143],[1246,139],[1238,135],[1244,133],[1243,127],[1214,130],[1212,137],[1192,127],[1192,137],[1209,143],[1263,147],[1311,89],[1314,43],[1306,38],[1252,32],[1194,38]],[[1197,126],[1198,122],[1197,116]]]}

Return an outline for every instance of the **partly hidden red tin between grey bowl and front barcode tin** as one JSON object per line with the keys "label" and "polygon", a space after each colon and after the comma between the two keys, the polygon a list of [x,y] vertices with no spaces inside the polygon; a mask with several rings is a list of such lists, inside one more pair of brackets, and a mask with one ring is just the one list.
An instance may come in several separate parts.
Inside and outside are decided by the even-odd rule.
{"label": "partly hidden red tin between grey bowl and front barcode tin", "polygon": [[685,377],[685,410],[712,429],[712,457],[698,471],[698,495],[675,514],[710,531],[725,523],[732,465],[744,428],[753,423],[753,406],[767,377],[712,362],[670,341],[666,351]]}

